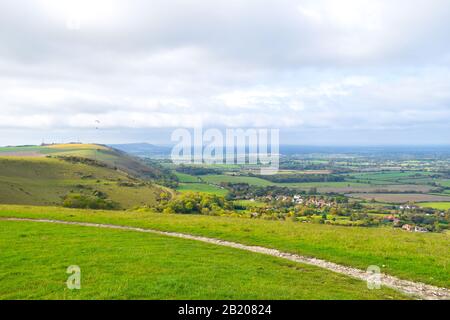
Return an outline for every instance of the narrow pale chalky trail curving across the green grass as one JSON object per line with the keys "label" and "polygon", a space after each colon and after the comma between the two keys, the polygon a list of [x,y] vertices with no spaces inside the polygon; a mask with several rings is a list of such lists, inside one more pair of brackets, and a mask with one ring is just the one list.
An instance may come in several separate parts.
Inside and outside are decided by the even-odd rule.
{"label": "narrow pale chalky trail curving across the green grass", "polygon": [[[112,225],[112,224],[99,224],[99,223],[90,223],[90,222],[73,222],[73,221],[62,221],[62,220],[50,220],[50,219],[29,219],[29,218],[0,218],[0,220],[6,221],[30,221],[30,222],[44,222],[44,223],[58,223],[58,224],[66,224],[66,225],[77,225],[77,226],[85,226],[85,227],[96,227],[96,228],[107,228],[107,229],[118,229],[118,230],[128,230],[128,231],[136,231],[136,232],[145,232],[145,233],[153,233],[158,235],[177,237],[182,239],[190,239],[196,240],[206,243],[212,243],[215,245],[231,247],[256,253],[262,253],[274,257],[283,258],[286,260],[304,263],[308,265],[313,265],[316,267],[320,267],[323,269],[327,269],[336,273],[344,274],[346,276],[360,279],[363,281],[368,281],[372,277],[371,274],[367,273],[365,270],[346,267],[343,265],[339,265],[333,262],[329,262],[326,260],[309,258],[300,256],[297,254],[291,254],[286,252],[281,252],[276,249],[269,249],[265,247],[259,246],[249,246],[231,241],[224,241],[214,238],[207,238],[202,236],[194,236],[190,234],[178,233],[178,232],[167,232],[167,231],[158,231],[153,229],[144,229],[137,227],[129,227],[129,226],[120,226],[120,225]],[[394,276],[389,276],[386,274],[381,274],[380,276],[381,285],[395,289],[402,293],[412,295],[414,297],[425,299],[425,300],[450,300],[450,290],[447,288],[439,288],[432,285],[413,282],[408,280],[402,280],[396,278]]]}

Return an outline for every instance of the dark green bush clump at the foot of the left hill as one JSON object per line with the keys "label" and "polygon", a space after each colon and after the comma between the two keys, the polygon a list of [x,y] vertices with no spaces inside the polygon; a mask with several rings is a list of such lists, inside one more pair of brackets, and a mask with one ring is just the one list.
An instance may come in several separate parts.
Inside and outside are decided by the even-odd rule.
{"label": "dark green bush clump at the foot of the left hill", "polygon": [[120,208],[118,203],[106,199],[106,195],[100,191],[94,192],[92,195],[69,193],[64,197],[62,205],[66,208],[78,209],[114,210]]}

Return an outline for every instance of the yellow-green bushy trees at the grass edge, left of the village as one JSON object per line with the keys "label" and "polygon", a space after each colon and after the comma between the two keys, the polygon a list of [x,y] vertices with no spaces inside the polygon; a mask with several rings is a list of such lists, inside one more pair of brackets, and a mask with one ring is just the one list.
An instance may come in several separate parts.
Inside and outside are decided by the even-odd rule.
{"label": "yellow-green bushy trees at the grass edge, left of the village", "polygon": [[231,214],[234,207],[217,195],[188,192],[172,199],[163,197],[156,209],[163,213],[222,215]]}

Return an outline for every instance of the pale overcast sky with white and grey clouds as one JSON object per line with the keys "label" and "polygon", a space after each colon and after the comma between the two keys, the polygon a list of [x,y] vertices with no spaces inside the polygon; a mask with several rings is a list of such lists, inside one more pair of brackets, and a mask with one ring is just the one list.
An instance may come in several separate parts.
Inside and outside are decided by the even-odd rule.
{"label": "pale overcast sky with white and grey clouds", "polygon": [[450,144],[450,2],[0,1],[1,145],[161,143],[199,123]]}

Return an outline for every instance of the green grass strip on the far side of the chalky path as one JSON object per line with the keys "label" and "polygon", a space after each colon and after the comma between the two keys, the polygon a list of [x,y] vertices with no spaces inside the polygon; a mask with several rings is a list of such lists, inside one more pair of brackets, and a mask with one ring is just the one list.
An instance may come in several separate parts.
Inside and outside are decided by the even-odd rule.
{"label": "green grass strip on the far side of the chalky path", "polygon": [[450,287],[449,233],[421,234],[392,228],[50,207],[0,206],[0,216],[89,221],[184,232],[277,248],[361,269],[378,265],[383,272],[400,278]]}

